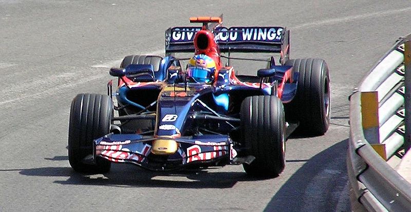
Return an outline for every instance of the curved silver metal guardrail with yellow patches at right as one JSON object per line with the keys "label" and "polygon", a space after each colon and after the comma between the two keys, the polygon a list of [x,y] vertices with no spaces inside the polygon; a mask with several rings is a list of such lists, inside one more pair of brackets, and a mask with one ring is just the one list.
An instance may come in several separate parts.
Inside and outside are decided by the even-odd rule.
{"label": "curved silver metal guardrail with yellow patches at right", "polygon": [[411,211],[411,184],[386,162],[393,155],[401,156],[408,145],[404,140],[406,38],[396,42],[350,96],[351,203],[360,203],[368,211]]}

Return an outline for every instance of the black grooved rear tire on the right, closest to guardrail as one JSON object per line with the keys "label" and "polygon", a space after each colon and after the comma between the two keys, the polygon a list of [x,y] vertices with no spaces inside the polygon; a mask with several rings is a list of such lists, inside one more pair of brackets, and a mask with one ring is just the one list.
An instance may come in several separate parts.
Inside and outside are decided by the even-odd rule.
{"label": "black grooved rear tire on the right, closest to guardrail", "polygon": [[330,125],[330,76],[327,63],[319,58],[288,60],[294,72],[300,73],[297,91],[291,102],[284,104],[286,120],[299,122],[297,132],[323,135]]}

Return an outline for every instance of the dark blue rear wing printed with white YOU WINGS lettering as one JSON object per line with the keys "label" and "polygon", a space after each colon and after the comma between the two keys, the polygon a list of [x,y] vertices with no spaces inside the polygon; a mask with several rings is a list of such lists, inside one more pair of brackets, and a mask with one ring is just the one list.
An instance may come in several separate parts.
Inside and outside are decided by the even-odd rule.
{"label": "dark blue rear wing printed with white YOU WINGS lettering", "polygon": [[[194,35],[201,27],[173,27],[165,31],[165,53],[194,52]],[[221,52],[289,52],[285,27],[217,27],[213,31]]]}

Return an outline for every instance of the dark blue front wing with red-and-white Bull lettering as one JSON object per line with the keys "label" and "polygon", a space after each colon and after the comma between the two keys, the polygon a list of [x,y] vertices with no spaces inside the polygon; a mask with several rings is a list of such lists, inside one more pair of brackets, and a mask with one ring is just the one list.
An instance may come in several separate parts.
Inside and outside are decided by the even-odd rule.
{"label": "dark blue front wing with red-and-white Bull lettering", "polygon": [[[174,154],[155,155],[156,139],[174,140]],[[173,170],[186,165],[236,164],[237,152],[229,136],[196,136],[189,138],[151,137],[139,134],[107,134],[94,141],[93,158],[103,157],[114,163],[132,163],[150,170]]]}

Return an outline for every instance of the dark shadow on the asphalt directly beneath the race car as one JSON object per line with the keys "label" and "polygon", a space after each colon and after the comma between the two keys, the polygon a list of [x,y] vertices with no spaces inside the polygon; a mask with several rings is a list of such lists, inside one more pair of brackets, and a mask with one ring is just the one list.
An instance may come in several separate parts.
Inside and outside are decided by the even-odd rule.
{"label": "dark shadow on the asphalt directly beneath the race car", "polygon": [[[62,158],[56,156],[54,158]],[[48,160],[47,158],[45,158]],[[245,172],[211,172],[184,169],[179,171],[148,171],[130,164],[113,164],[105,174],[81,174],[70,167],[42,167],[19,170],[28,176],[66,176],[67,180],[54,181],[62,185],[104,185],[120,187],[165,187],[165,188],[231,188],[239,181],[259,181]]]}

